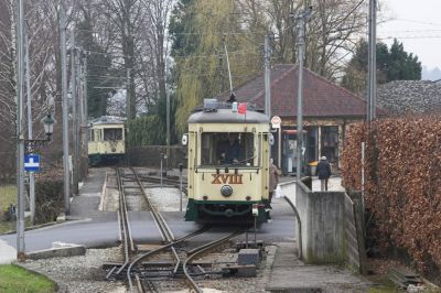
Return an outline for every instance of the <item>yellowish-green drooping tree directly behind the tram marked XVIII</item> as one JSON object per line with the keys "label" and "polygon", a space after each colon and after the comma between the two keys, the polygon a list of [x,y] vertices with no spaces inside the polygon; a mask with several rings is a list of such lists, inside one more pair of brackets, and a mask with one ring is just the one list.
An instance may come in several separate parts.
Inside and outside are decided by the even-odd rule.
{"label": "yellowish-green drooping tree directly behind the tram marked XVIII", "polygon": [[185,130],[190,112],[204,98],[228,90],[224,45],[228,48],[233,86],[262,68],[259,48],[263,37],[251,37],[251,26],[241,20],[236,1],[184,0],[173,11],[170,34],[174,41],[178,131]]}

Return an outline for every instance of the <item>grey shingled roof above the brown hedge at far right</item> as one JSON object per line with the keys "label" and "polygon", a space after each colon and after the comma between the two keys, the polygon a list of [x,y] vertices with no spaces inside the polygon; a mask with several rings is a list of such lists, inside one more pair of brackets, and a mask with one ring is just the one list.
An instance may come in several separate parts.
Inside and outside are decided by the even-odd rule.
{"label": "grey shingled roof above the brown hedge at far right", "polygon": [[390,82],[378,87],[377,102],[391,115],[441,112],[441,83]]}

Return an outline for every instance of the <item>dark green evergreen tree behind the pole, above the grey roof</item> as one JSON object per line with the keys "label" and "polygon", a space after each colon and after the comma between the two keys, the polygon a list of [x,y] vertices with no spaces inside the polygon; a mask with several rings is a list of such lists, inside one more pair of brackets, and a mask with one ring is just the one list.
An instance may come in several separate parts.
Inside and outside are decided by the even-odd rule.
{"label": "dark green evergreen tree behind the pole, above the grey roof", "polygon": [[[366,88],[368,44],[361,40],[352,56],[342,86],[362,95]],[[394,40],[390,50],[385,43],[377,43],[377,83],[386,84],[392,80],[421,79],[421,63],[413,54],[405,52],[402,43]]]}

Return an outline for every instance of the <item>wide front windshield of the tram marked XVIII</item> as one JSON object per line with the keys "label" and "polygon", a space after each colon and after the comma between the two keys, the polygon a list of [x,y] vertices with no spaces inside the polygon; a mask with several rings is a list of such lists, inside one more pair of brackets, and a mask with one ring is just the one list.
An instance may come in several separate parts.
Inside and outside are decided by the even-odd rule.
{"label": "wide front windshield of the tram marked XVIII", "polygon": [[254,166],[256,150],[249,132],[204,132],[201,139],[201,165]]}

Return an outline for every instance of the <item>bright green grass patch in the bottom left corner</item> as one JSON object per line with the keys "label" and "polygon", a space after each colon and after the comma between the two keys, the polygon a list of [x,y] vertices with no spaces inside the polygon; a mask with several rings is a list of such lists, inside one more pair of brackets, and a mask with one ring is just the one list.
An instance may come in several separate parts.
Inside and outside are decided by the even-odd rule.
{"label": "bright green grass patch in the bottom left corner", "polygon": [[0,265],[0,292],[50,293],[56,285],[47,278],[32,273],[15,264]]}

